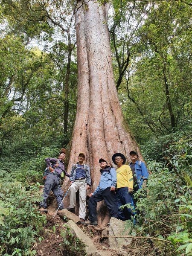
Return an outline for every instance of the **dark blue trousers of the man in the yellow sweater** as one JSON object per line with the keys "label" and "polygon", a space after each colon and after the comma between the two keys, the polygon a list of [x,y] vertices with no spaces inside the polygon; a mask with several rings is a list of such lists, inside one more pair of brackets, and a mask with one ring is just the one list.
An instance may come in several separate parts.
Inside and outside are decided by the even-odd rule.
{"label": "dark blue trousers of the man in the yellow sweater", "polygon": [[119,188],[116,190],[116,204],[119,212],[119,219],[122,221],[130,220],[131,215],[134,216],[136,212],[131,208],[124,207],[123,210],[120,210],[120,207],[125,204],[130,204],[131,207],[134,207],[133,196],[128,193],[128,187]]}

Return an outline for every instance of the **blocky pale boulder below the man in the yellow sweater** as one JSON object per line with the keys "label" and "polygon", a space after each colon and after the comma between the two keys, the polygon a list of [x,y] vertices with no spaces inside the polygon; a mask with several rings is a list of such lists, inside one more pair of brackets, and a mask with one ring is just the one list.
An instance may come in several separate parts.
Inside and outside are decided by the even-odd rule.
{"label": "blocky pale boulder below the man in the yellow sweater", "polygon": [[[109,226],[109,236],[129,236],[129,230],[125,230],[125,222],[116,218],[111,218]],[[109,247],[111,250],[119,250],[122,247],[131,244],[131,238],[113,238],[109,237]]]}

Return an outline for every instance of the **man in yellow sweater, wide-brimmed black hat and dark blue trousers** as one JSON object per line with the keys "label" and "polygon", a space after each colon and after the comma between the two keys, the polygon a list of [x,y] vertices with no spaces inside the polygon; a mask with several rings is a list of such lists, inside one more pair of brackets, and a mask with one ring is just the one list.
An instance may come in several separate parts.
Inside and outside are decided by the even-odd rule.
{"label": "man in yellow sweater, wide-brimmed black hat and dark blue trousers", "polygon": [[[125,165],[126,158],[121,153],[113,154],[113,163],[118,166],[116,169],[116,204],[119,212],[119,219],[126,221],[131,219],[131,215],[136,214],[134,210],[134,201],[131,193],[133,192],[134,179],[133,173],[130,166]],[[123,210],[120,209],[122,205],[130,204],[130,207],[124,207]]]}

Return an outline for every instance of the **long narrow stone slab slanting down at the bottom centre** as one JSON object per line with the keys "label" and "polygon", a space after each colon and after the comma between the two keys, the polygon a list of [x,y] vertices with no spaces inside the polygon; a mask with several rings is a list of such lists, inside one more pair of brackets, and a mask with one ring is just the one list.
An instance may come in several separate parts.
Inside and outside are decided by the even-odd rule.
{"label": "long narrow stone slab slanting down at the bottom centre", "polygon": [[79,239],[81,239],[84,244],[86,244],[86,253],[88,255],[92,254],[92,253],[96,253],[97,251],[97,248],[95,247],[93,241],[88,237],[86,236],[83,231],[72,221],[72,220],[69,220],[67,222],[67,225],[70,227],[70,231],[76,235]]}

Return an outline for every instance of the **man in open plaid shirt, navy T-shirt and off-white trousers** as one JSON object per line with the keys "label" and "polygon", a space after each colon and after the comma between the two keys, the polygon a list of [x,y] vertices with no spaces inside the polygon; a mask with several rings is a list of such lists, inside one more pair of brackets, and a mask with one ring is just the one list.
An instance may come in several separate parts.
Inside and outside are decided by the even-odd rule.
{"label": "man in open plaid shirt, navy T-shirt and off-white trousers", "polygon": [[90,189],[90,167],[84,164],[85,155],[79,153],[78,163],[73,164],[70,174],[70,212],[75,213],[76,192],[79,191],[79,218],[84,224],[86,215],[87,189]]}

